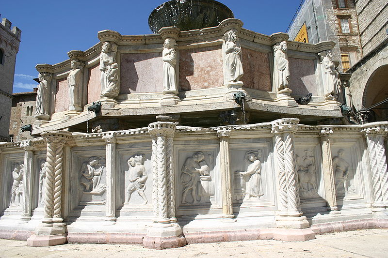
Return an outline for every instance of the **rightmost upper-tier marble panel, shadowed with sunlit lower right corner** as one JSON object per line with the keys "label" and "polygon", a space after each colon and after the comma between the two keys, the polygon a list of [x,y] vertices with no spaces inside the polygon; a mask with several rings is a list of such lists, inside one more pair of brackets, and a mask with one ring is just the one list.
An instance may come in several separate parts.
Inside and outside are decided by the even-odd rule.
{"label": "rightmost upper-tier marble panel, shadowed with sunlit lower right corner", "polygon": [[293,94],[318,95],[313,60],[289,58],[290,62],[290,89]]}

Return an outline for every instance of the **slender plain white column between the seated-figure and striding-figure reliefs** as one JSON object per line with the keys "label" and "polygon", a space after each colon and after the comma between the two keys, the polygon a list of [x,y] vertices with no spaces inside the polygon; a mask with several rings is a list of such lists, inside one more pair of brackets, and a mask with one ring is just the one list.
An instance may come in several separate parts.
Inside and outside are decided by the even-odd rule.
{"label": "slender plain white column between the seated-figure and striding-figure reliefs", "polygon": [[116,221],[116,138],[113,135],[106,135],[102,138],[106,142],[105,219]]}

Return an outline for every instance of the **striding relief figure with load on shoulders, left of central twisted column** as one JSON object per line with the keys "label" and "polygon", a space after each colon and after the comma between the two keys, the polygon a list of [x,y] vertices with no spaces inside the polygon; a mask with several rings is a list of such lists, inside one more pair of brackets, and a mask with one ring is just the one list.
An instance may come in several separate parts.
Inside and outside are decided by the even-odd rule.
{"label": "striding relief figure with load on shoulders, left of central twisted column", "polygon": [[136,191],[139,196],[143,198],[143,205],[145,205],[148,202],[147,197],[144,194],[144,190],[146,190],[147,174],[146,168],[144,167],[143,155],[136,155],[129,158],[128,166],[129,170],[126,172],[129,172],[129,185],[127,188],[125,204],[129,203],[131,194]]}

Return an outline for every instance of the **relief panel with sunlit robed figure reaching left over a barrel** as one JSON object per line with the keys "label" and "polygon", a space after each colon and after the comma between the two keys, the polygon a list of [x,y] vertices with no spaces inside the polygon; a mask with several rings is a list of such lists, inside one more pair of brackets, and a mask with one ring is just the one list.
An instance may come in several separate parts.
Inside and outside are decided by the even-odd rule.
{"label": "relief panel with sunlit robed figure reaching left over a barrel", "polygon": [[275,206],[275,169],[271,140],[230,140],[233,203],[241,204],[241,207]]}

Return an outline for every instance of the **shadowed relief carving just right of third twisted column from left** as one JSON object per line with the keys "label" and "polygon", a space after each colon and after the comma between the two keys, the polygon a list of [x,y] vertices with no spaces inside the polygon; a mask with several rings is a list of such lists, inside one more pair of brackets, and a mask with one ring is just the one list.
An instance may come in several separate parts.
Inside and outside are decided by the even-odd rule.
{"label": "shadowed relief carving just right of third twisted column from left", "polygon": [[298,181],[301,195],[315,195],[318,192],[316,167],[313,150],[305,150],[305,155],[297,158]]}

